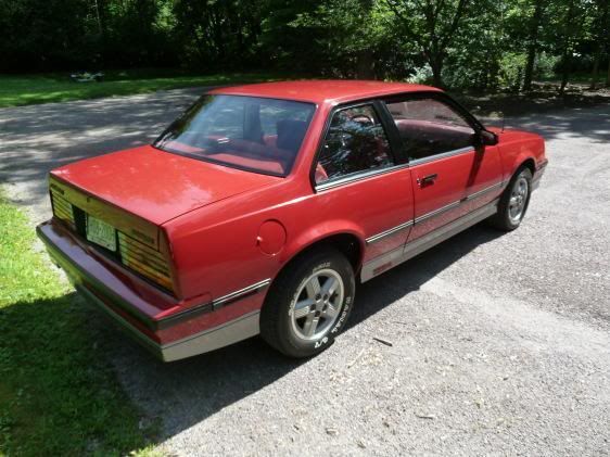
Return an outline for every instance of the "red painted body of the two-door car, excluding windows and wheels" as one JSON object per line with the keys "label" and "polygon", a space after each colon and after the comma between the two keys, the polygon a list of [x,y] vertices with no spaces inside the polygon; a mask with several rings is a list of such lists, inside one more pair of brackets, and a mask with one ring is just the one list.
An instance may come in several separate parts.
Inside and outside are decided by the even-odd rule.
{"label": "red painted body of the two-door car, excluding windows and wheels", "polygon": [[[385,112],[393,165],[317,183],[316,154],[339,109],[385,110],[395,98],[423,94],[469,115],[439,89],[407,84],[294,81],[211,93],[315,105],[287,176],[130,149],[52,170],[54,216],[37,228],[76,288],[164,360],[257,334],[275,279],[312,246],[347,250],[359,279],[369,280],[491,216],[516,170],[528,167],[537,183],[546,165],[541,137],[498,129],[486,144],[410,161],[396,153]],[[93,216],[117,230],[132,265],[78,230]],[[151,281],[157,259],[161,282]]]}

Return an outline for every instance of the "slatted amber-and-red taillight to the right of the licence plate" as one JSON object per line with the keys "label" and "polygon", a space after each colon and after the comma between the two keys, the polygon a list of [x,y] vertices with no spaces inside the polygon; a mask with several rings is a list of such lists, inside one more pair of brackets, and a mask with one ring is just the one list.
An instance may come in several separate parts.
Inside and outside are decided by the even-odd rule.
{"label": "slatted amber-and-red taillight to the right of the licence plate", "polygon": [[171,272],[164,254],[120,231],[118,232],[118,250],[120,262],[127,268],[174,291]]}

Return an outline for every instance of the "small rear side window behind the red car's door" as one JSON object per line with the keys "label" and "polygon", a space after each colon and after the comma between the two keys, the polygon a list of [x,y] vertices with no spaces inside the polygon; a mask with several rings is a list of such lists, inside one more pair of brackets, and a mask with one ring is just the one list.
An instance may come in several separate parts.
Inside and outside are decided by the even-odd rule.
{"label": "small rear side window behind the red car's door", "polygon": [[372,105],[333,114],[316,166],[316,182],[393,165],[390,144]]}

